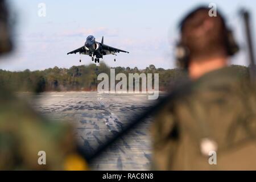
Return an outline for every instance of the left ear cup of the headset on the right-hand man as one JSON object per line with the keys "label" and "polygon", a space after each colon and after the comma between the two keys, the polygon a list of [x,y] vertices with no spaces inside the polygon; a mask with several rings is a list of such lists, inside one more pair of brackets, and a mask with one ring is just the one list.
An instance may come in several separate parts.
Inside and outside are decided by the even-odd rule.
{"label": "left ear cup of the headset on the right-hand man", "polygon": [[188,68],[189,49],[181,43],[176,44],[175,57],[179,68]]}

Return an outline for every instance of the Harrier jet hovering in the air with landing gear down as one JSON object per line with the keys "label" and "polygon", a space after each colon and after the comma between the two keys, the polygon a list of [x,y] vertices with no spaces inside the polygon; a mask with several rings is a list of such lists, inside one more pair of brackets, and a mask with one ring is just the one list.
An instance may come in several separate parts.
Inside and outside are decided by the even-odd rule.
{"label": "Harrier jet hovering in the air with landing gear down", "polygon": [[[89,55],[90,57],[92,57],[92,61],[94,61],[95,63],[100,63],[100,58],[103,58],[104,55],[115,55],[115,53],[119,53],[119,52],[126,52],[129,53],[127,51],[123,51],[121,49],[117,49],[114,47],[110,47],[105,45],[104,43],[104,37],[102,36],[102,40],[101,43],[96,42],[95,38],[93,35],[89,35],[86,38],[86,42],[84,44],[84,46],[75,49],[74,51],[68,52],[67,54],[71,54],[71,53],[77,53],[79,52],[80,55]],[[94,59],[95,56],[95,59]],[[115,55],[116,56],[116,55]],[[115,61],[115,59],[114,59]],[[81,62],[81,59],[80,59]]]}

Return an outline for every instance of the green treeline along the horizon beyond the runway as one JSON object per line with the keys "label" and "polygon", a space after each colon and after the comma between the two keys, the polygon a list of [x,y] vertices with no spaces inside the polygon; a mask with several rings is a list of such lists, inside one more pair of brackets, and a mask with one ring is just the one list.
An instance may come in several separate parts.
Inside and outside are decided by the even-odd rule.
{"label": "green treeline along the horizon beyond the runway", "polygon": [[[237,67],[239,72],[247,75],[247,68]],[[43,71],[30,71],[26,69],[22,72],[10,72],[0,69],[0,86],[5,86],[19,92],[43,92],[43,91],[71,91],[97,90],[97,76],[100,73],[110,75],[110,67],[104,62],[100,65],[89,64],[73,66],[67,68],[48,68]],[[184,76],[180,69],[163,69],[155,68],[149,65],[146,69],[115,67],[115,75],[125,73],[128,77],[129,73],[159,73],[159,89],[166,90],[172,82]]]}

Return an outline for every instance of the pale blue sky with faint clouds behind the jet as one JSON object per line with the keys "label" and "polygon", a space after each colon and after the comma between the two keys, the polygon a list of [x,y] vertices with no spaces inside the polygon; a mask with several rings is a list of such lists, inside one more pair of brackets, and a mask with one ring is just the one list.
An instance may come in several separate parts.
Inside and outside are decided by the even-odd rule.
{"label": "pale blue sky with faint clouds behind the jet", "polygon": [[[233,28],[242,51],[234,57],[233,64],[247,64],[240,7],[253,13],[256,1],[31,1],[10,0],[16,17],[14,32],[15,51],[1,57],[0,69],[22,71],[49,67],[90,64],[89,56],[67,55],[81,47],[86,36],[92,34],[100,42],[130,51],[104,57],[106,64],[114,67],[146,68],[150,64],[174,68],[173,50],[179,37],[177,23],[189,10],[198,5],[216,3],[217,10],[226,16]],[[38,16],[38,4],[46,4],[46,17]],[[255,14],[253,16],[256,23]],[[255,28],[254,28],[255,30]]]}

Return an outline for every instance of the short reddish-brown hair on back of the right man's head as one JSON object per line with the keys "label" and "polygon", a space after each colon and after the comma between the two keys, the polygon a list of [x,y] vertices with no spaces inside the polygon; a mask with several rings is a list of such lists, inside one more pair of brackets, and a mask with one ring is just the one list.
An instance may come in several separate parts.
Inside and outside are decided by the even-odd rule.
{"label": "short reddish-brown hair on back of the right man's head", "polygon": [[[209,11],[208,7],[198,7],[180,23],[181,44],[188,48],[190,60],[228,55],[225,20],[220,13],[209,16]],[[212,28],[202,28],[206,21]]]}

